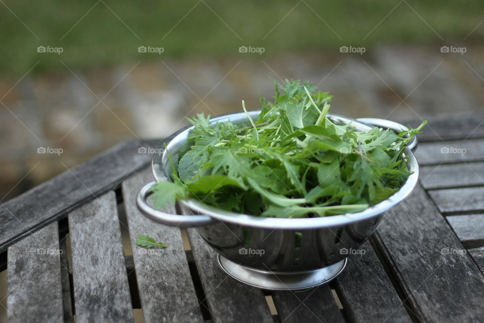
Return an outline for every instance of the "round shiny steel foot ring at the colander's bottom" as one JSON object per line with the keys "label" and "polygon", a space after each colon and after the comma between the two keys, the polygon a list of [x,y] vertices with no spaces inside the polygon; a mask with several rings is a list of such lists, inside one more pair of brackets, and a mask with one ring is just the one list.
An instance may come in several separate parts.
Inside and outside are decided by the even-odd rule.
{"label": "round shiny steel foot ring at the colander's bottom", "polygon": [[230,277],[247,285],[268,290],[302,290],[326,284],[338,276],[347,258],[332,265],[304,272],[271,272],[237,264],[218,255],[218,263]]}

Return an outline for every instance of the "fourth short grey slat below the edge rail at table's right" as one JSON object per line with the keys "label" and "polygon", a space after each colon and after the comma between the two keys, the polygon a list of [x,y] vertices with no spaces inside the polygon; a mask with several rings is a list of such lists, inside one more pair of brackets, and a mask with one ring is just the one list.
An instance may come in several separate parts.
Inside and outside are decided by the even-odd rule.
{"label": "fourth short grey slat below the edge rail at table's right", "polygon": [[447,221],[464,247],[484,246],[484,214],[449,216]]}

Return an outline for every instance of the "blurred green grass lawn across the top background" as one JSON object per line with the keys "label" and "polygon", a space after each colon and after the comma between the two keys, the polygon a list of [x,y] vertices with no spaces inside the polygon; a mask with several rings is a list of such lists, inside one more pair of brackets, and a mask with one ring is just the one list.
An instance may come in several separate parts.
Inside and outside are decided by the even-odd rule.
{"label": "blurred green grass lawn across the top background", "polygon": [[[4,4],[0,4],[3,74],[25,73],[38,61],[36,72],[65,69],[62,62],[71,68],[94,68],[160,57],[236,56],[241,45],[263,46],[266,57],[281,51],[337,52],[342,45],[458,43],[484,19],[484,6],[478,0],[4,0]],[[483,34],[484,24],[467,41]],[[39,53],[40,45],[60,46],[64,52]],[[163,47],[164,52],[140,53],[141,45]]]}

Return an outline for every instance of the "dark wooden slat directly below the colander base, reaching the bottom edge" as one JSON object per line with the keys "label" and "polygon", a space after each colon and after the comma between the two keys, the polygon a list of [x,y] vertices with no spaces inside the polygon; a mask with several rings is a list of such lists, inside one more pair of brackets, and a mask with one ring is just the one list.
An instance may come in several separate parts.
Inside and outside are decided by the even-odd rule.
{"label": "dark wooden slat directly below the colander base, reaching the bottom edge", "polygon": [[328,285],[306,292],[277,291],[272,298],[284,323],[345,321]]}

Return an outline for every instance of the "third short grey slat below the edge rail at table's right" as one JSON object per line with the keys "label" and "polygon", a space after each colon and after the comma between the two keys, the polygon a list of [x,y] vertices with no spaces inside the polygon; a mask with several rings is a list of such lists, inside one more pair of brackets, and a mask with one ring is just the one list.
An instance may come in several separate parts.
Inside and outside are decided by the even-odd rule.
{"label": "third short grey slat below the edge rail at table's right", "polygon": [[443,213],[484,210],[484,187],[433,190],[429,194]]}

